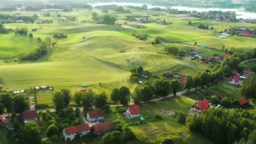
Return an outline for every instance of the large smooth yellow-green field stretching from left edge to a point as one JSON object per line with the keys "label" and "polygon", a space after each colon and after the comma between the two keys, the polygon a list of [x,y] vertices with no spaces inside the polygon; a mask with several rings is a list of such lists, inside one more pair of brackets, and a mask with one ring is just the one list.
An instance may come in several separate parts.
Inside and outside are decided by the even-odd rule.
{"label": "large smooth yellow-green field stretching from left edge to a point", "polygon": [[127,80],[130,72],[92,57],[68,61],[0,66],[7,90],[40,85],[80,86]]}

